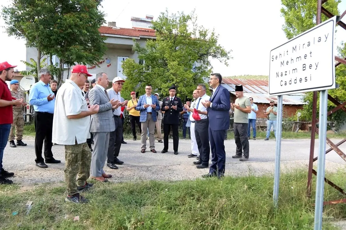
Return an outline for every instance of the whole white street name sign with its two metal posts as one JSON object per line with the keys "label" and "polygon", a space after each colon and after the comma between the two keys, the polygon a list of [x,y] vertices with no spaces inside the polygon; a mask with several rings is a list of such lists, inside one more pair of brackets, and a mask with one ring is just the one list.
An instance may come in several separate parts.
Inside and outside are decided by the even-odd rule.
{"label": "whole white street name sign with its two metal posts", "polygon": [[277,98],[276,157],[273,202],[279,200],[283,95],[321,91],[319,164],[316,186],[315,230],[321,229],[328,89],[335,89],[334,34],[336,16],[307,30],[270,51],[269,96]]}

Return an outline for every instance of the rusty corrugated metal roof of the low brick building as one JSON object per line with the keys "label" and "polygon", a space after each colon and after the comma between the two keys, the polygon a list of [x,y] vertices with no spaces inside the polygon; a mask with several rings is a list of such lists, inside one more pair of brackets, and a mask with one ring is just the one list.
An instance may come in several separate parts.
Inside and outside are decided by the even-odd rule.
{"label": "rusty corrugated metal roof of the low brick building", "polygon": [[[257,103],[269,103],[270,100],[277,102],[277,97],[269,97],[268,81],[252,80],[252,79],[236,79],[236,78],[222,78],[222,86],[224,86],[230,93],[235,95],[235,86],[242,85],[245,97],[254,98]],[[284,95],[283,104],[301,105],[306,104],[303,102],[304,93],[294,93]]]}

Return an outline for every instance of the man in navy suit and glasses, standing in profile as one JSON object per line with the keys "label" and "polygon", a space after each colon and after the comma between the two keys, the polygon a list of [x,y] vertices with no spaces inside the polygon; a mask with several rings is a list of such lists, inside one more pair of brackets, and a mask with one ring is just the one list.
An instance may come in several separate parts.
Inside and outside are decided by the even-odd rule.
{"label": "man in navy suit and glasses, standing in profile", "polygon": [[211,148],[211,165],[209,173],[202,175],[203,178],[223,177],[225,174],[226,152],[225,152],[225,130],[229,127],[229,92],[221,86],[222,77],[220,73],[212,73],[209,85],[213,89],[210,101],[202,102],[208,110],[209,140]]}

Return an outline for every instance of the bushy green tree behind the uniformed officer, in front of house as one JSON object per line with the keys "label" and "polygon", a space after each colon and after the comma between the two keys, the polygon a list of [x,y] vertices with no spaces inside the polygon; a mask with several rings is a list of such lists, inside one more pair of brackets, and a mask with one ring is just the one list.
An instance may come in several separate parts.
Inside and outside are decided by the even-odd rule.
{"label": "bushy green tree behind the uniformed officer, in front of house", "polygon": [[[209,58],[227,65],[230,52],[218,44],[218,35],[196,23],[194,12],[189,15],[162,12],[153,22],[156,39],[147,40],[145,47],[135,42],[133,50],[140,60],[127,59],[122,68],[127,80],[124,95],[132,90],[145,93],[145,84],[150,83],[154,92],[168,95],[168,88],[177,87],[177,96],[184,100],[198,83],[209,78]],[[189,26],[191,29],[189,29]]]}

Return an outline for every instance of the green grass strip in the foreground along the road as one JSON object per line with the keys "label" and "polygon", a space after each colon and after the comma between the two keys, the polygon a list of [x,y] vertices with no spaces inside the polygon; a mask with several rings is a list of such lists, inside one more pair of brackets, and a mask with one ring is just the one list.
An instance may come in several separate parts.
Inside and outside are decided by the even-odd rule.
{"label": "green grass strip in the foreground along the road", "polygon": [[[346,173],[328,175],[345,184]],[[315,177],[314,177],[315,179]],[[282,174],[279,208],[273,207],[273,177],[248,176],[178,182],[95,183],[88,204],[65,203],[64,187],[40,185],[27,192],[0,186],[0,229],[312,229],[313,200],[306,197],[307,173]],[[313,182],[313,188],[316,183]],[[325,199],[342,196],[325,186]],[[33,208],[25,215],[25,203]],[[12,212],[18,214],[13,216]],[[79,216],[79,221],[73,217]],[[346,217],[345,204],[324,207],[324,229]]]}

